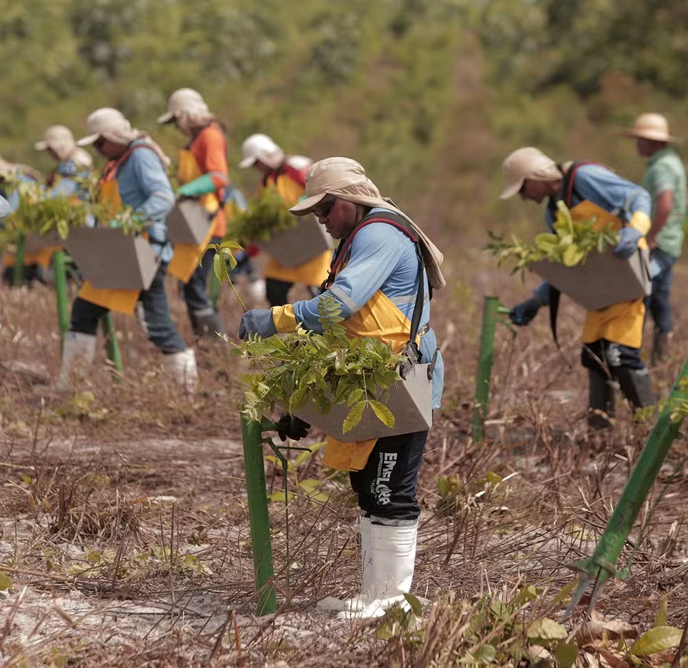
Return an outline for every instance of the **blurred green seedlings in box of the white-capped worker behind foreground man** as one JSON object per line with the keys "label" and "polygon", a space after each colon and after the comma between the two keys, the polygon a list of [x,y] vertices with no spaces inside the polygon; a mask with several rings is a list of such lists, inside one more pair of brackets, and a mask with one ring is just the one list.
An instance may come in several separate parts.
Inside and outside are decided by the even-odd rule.
{"label": "blurred green seedlings in box of the white-capped worker behind foreground man", "polygon": [[275,188],[263,191],[248,202],[246,211],[236,211],[228,224],[228,237],[241,243],[269,241],[276,234],[297,226],[299,220],[289,213]]}

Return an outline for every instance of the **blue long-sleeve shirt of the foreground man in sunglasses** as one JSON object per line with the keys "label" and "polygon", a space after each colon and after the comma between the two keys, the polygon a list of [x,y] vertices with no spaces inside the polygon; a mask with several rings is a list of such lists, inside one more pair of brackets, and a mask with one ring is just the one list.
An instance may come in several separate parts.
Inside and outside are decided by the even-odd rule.
{"label": "blue long-sleeve shirt of the foreground man in sunglasses", "polygon": [[[392,213],[374,208],[371,213]],[[335,251],[335,259],[337,257]],[[341,306],[343,318],[349,319],[380,290],[411,321],[418,293],[418,255],[413,241],[401,230],[387,223],[371,223],[361,228],[349,248],[346,266],[337,274],[325,294]],[[427,274],[423,272],[424,303],[420,327],[430,321],[430,299]],[[297,323],[314,332],[322,332],[318,320],[319,297],[294,303]],[[409,332],[410,336],[410,332]],[[422,361],[429,363],[437,348],[435,332],[428,328],[420,338]],[[444,389],[444,363],[438,350],[432,380],[433,409],[440,407]]]}

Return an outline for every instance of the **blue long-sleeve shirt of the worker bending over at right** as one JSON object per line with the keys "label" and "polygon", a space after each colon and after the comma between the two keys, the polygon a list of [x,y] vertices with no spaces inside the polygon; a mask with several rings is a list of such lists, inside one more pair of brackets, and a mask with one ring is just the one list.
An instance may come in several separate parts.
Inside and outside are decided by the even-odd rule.
{"label": "blue long-sleeve shirt of the worker bending over at right", "polygon": [[[563,184],[554,198],[555,202],[563,200]],[[648,216],[652,201],[645,188],[641,188],[629,180],[615,174],[611,169],[601,164],[583,164],[576,170],[574,187],[571,194],[569,208],[587,200],[609,211],[627,223],[636,211],[642,211]],[[556,210],[548,206],[545,211],[545,222],[550,232],[554,231]],[[543,305],[549,303],[548,281],[542,281],[533,292]]]}

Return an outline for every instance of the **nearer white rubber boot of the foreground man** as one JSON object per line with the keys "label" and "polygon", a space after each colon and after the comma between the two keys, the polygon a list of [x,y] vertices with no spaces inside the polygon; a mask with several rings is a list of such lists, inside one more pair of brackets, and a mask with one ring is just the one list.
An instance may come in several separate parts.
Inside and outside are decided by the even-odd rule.
{"label": "nearer white rubber boot of the foreground man", "polygon": [[[372,582],[362,610],[340,612],[338,619],[381,617],[385,610],[405,602],[416,568],[418,523],[411,526],[371,524]],[[365,594],[365,592],[364,592]]]}

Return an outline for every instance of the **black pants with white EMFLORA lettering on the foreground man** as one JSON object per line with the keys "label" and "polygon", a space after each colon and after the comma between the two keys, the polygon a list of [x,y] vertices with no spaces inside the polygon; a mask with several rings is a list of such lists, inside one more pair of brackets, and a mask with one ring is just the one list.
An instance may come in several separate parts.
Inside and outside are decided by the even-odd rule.
{"label": "black pants with white EMFLORA lettering on the foreground man", "polygon": [[363,471],[349,474],[358,506],[378,524],[412,524],[418,520],[418,471],[428,432],[378,439]]}

